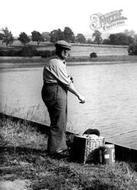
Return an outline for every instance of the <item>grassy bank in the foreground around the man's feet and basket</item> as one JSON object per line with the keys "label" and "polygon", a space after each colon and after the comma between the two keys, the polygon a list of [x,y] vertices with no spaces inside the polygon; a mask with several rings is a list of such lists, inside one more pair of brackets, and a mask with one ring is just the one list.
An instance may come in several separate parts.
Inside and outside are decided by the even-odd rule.
{"label": "grassy bank in the foreground around the man's feet and basket", "polygon": [[[47,155],[47,136],[26,122],[0,119],[0,185],[27,181],[31,190],[135,190],[137,164],[78,164]],[[18,189],[19,190],[19,189]]]}

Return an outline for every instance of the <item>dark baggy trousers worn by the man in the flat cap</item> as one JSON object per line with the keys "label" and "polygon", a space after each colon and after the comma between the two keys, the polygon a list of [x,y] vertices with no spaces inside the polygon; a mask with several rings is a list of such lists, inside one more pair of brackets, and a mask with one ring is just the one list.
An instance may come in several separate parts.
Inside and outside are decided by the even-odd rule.
{"label": "dark baggy trousers worn by the man in the flat cap", "polygon": [[67,149],[66,124],[67,124],[67,90],[59,84],[44,84],[42,99],[48,108],[50,116],[50,134],[48,138],[48,152]]}

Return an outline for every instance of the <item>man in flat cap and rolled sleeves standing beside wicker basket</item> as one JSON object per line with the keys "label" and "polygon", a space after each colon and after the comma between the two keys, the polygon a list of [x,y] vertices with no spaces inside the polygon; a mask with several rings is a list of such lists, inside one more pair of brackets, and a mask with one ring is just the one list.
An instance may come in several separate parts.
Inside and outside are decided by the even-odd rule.
{"label": "man in flat cap and rolled sleeves standing beside wicker basket", "polygon": [[76,90],[71,77],[67,74],[66,58],[71,50],[70,44],[60,40],[56,42],[55,47],[56,56],[44,66],[42,99],[47,106],[51,121],[48,153],[63,155],[67,150],[65,136],[67,91],[73,93],[80,103],[85,103],[85,98]]}

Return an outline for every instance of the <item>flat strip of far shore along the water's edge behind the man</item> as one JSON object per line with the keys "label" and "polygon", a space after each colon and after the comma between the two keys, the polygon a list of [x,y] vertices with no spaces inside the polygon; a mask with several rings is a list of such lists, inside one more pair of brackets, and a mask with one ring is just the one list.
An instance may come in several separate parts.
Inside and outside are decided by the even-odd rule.
{"label": "flat strip of far shore along the water's edge behind the man", "polygon": [[[0,57],[0,69],[22,68],[22,67],[42,67],[50,58],[41,57]],[[124,64],[137,63],[137,56],[98,56],[90,57],[70,57],[67,60],[68,66],[75,65],[104,65],[104,64]]]}

